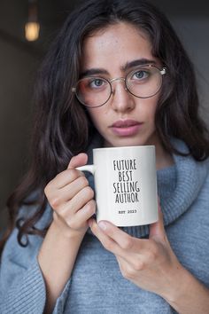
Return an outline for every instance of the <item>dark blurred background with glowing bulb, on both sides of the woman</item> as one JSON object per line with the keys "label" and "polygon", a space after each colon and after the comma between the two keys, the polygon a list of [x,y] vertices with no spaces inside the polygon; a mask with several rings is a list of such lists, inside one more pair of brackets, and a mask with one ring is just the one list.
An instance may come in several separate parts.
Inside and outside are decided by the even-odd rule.
{"label": "dark blurred background with glowing bulb, on both sides of the woman", "polygon": [[[171,20],[195,65],[201,115],[208,125],[209,2],[151,2]],[[79,3],[78,0],[0,0],[0,232],[6,226],[6,200],[29,161],[37,69],[67,14]]]}

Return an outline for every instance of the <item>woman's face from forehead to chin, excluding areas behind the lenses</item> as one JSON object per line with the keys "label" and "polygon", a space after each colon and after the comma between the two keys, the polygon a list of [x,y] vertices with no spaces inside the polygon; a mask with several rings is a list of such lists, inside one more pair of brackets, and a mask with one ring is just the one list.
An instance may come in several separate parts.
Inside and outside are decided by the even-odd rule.
{"label": "woman's face from forehead to chin, excluding areas behind the lenses", "polygon": [[[133,69],[134,61],[138,66],[144,59],[161,66],[151,54],[148,37],[124,22],[89,36],[83,48],[81,72],[109,80],[125,77]],[[159,93],[151,98],[136,98],[120,80],[112,82],[112,90],[112,97],[104,106],[88,107],[92,122],[104,137],[104,145],[157,145],[154,120]]]}

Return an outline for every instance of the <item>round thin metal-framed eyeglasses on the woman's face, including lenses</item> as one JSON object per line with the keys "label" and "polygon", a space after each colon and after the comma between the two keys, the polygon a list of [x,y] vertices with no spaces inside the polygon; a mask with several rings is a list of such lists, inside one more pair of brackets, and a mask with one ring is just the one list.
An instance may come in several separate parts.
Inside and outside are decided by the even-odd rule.
{"label": "round thin metal-framed eyeglasses on the woman's face, including lenses", "polygon": [[137,98],[151,98],[162,86],[162,77],[166,67],[159,69],[153,65],[135,67],[126,77],[108,80],[101,76],[86,76],[76,83],[72,91],[82,105],[88,107],[103,106],[112,96],[112,82],[123,81],[125,90]]}

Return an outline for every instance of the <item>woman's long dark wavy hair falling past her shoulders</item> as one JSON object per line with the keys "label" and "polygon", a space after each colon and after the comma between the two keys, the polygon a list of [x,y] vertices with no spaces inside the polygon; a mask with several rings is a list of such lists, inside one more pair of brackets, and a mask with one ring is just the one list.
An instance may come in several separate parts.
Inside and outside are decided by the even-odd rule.
{"label": "woman's long dark wavy hair falling past her shoulders", "polygon": [[[115,23],[127,22],[146,33],[152,54],[167,68],[156,112],[156,130],[168,153],[170,137],[181,138],[197,161],[209,156],[208,133],[198,116],[197,86],[193,66],[170,22],[144,0],[89,0],[72,12],[43,61],[35,86],[35,125],[32,162],[26,177],[8,200],[10,225],[2,240],[19,228],[18,240],[39,234],[35,224],[43,216],[47,200],[45,185],[66,169],[76,153],[86,150],[96,131],[72,87],[80,76],[82,44],[89,35]],[[30,197],[35,192],[35,197]],[[17,219],[19,208],[37,208],[32,216]],[[24,216],[24,215],[23,215]]]}

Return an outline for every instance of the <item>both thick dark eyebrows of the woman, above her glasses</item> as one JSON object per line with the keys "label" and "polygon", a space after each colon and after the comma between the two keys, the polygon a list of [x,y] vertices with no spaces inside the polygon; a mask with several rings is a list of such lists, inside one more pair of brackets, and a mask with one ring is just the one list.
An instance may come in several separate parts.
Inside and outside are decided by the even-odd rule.
{"label": "both thick dark eyebrows of the woman, above her glasses", "polygon": [[[132,67],[144,66],[148,64],[156,64],[156,62],[152,59],[136,59],[130,62],[127,62],[124,66],[120,67],[121,71],[125,72]],[[109,75],[108,71],[104,68],[89,68],[83,72],[81,72],[80,77],[91,76],[91,75]]]}

